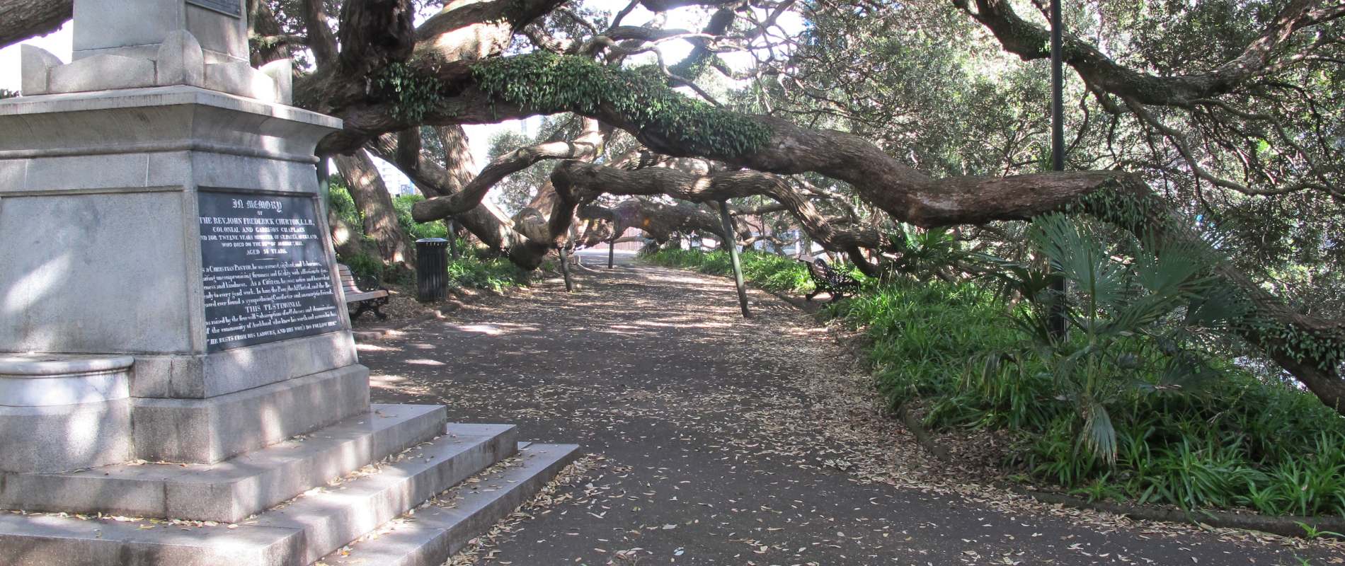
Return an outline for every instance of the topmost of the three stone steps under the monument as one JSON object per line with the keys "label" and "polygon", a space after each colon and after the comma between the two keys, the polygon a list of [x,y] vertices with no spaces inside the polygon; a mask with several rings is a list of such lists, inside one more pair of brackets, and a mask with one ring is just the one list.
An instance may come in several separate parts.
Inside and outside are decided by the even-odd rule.
{"label": "topmost of the three stone steps under the monument", "polygon": [[218,464],[0,475],[0,508],[237,523],[444,434],[447,415],[438,405],[371,405],[369,413]]}

